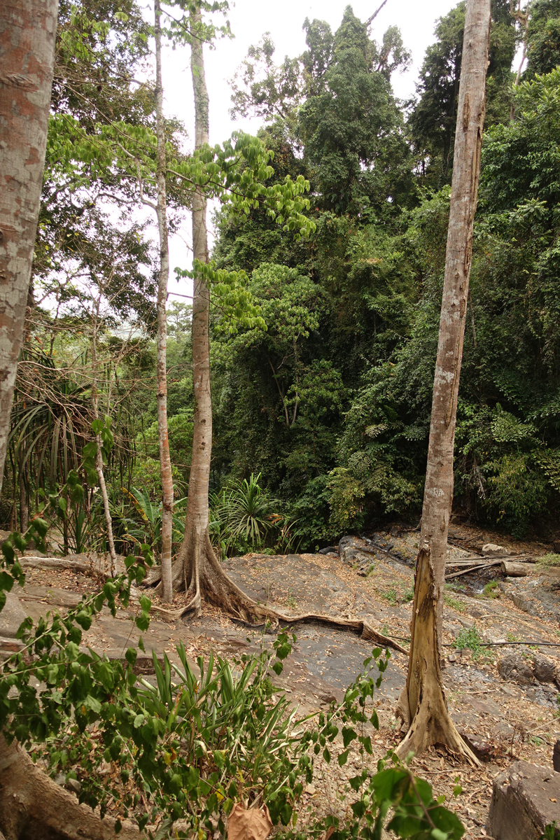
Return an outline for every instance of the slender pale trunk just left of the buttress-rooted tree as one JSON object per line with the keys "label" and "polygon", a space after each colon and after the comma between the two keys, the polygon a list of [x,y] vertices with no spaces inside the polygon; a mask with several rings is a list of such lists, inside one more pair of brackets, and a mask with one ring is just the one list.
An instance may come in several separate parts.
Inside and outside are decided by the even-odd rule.
{"label": "slender pale trunk just left of the buttress-rooted tree", "polygon": [[157,134],[157,207],[160,234],[160,283],[158,286],[158,441],[162,489],[161,512],[161,589],[163,600],[173,601],[171,583],[171,540],[173,536],[173,476],[167,426],[167,286],[169,283],[169,242],[167,235],[167,199],[165,195],[165,121],[161,81],[160,0],[155,0],[155,118]]}

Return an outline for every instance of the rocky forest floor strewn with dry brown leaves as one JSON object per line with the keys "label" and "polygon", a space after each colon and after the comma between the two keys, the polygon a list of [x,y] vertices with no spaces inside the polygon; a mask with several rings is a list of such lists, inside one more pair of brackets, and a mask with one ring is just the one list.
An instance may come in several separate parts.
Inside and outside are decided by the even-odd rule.
{"label": "rocky forest floor strewn with dry brown leaves", "polygon": [[[349,563],[338,554],[289,554],[270,556],[248,554],[224,562],[233,580],[249,596],[281,610],[286,615],[320,612],[332,617],[367,618],[379,632],[396,638],[407,647],[411,621],[413,564],[418,533],[394,526],[369,534],[370,540],[353,541],[356,549]],[[449,535],[448,563],[479,552],[488,542],[500,543],[513,554],[542,555],[550,547],[542,543],[520,543],[479,528],[454,526]],[[452,569],[453,571],[453,569]],[[484,584],[496,580],[495,597],[482,594]],[[533,657],[544,656],[560,675],[560,578],[542,575],[535,569],[517,579],[500,575],[500,566],[450,580],[444,605],[443,643],[446,666],[443,671],[447,702],[458,729],[484,753],[479,769],[460,764],[445,751],[432,749],[414,759],[416,773],[432,783],[436,795],[446,795],[447,806],[456,811],[468,840],[488,837],[488,817],[492,781],[516,759],[552,768],[552,746],[560,738],[557,685],[535,678],[525,685],[500,676],[498,664],[515,654],[531,667]],[[95,591],[92,577],[71,571],[34,570],[27,572],[24,591],[18,595],[22,606],[34,619],[52,606],[73,606],[82,594]],[[177,596],[175,607],[183,596]],[[154,603],[157,596],[154,596]],[[110,657],[122,657],[137,642],[139,632],[131,622],[131,612],[119,610],[113,618],[104,609],[84,634],[84,643]],[[371,643],[358,634],[319,622],[298,623],[291,629],[297,641],[285,660],[283,674],[275,680],[279,691],[297,706],[301,714],[325,709],[332,698],[342,699],[343,691],[362,670],[371,653]],[[456,648],[459,633],[476,630],[490,647]],[[211,650],[231,657],[251,653],[261,645],[270,646],[274,636],[231,620],[205,605],[203,616],[177,622],[152,619],[144,636],[146,650],[165,651],[176,659],[175,645],[182,641],[189,658],[207,657]],[[525,643],[525,644],[520,644]],[[531,643],[528,645],[527,643]],[[374,697],[379,714],[379,732],[374,738],[377,760],[402,738],[395,721],[397,697],[406,681],[405,654],[391,651],[390,664]],[[342,743],[333,745],[333,759]],[[350,753],[342,768],[336,760],[316,764],[315,778],[302,798],[300,823],[305,825],[317,811],[343,816],[352,801],[348,778],[361,767],[359,754]],[[453,797],[457,782],[463,792]]]}

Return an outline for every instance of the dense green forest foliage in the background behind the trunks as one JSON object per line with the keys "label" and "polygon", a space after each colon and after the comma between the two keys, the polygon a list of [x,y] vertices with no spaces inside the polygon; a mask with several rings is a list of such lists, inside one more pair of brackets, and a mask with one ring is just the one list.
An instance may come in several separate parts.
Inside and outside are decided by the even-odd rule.
{"label": "dense green forest foliage in the background behind the trunks", "polygon": [[[455,493],[456,512],[520,537],[529,528],[546,533],[560,491],[560,7],[536,0],[527,14],[512,13],[505,0],[492,4]],[[181,124],[167,123],[171,229],[184,223],[189,179],[212,182],[222,201],[214,263],[205,269],[213,306],[212,533],[222,553],[307,548],[386,517],[418,515],[463,23],[463,3],[437,22],[414,102],[392,92],[391,76],[410,59],[398,29],[375,39],[348,7],[334,32],[307,19],[306,50],[280,65],[270,34],[249,50],[232,81],[232,113],[262,118],[259,140],[239,135],[192,156]],[[527,63],[512,87],[523,39]],[[139,178],[146,194],[153,190],[154,99],[150,81],[133,81],[148,58],[149,27],[134,3],[61,7],[0,507],[8,526],[25,528],[42,494],[65,485],[93,439],[95,397],[111,418],[105,470],[123,554],[142,542],[157,552],[159,544],[157,254],[136,192]],[[175,302],[168,320],[180,501],[194,411],[190,307]],[[251,506],[259,524],[244,531]],[[76,521],[62,522],[54,537],[66,550],[103,547],[101,516],[90,488]]]}

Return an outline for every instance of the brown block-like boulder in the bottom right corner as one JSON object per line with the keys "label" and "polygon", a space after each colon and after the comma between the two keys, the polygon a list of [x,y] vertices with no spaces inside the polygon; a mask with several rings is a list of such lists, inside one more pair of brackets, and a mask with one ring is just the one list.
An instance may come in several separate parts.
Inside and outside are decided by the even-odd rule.
{"label": "brown block-like boulder in the bottom right corner", "polygon": [[495,840],[539,840],[558,822],[559,802],[560,773],[516,761],[494,780],[486,830]]}

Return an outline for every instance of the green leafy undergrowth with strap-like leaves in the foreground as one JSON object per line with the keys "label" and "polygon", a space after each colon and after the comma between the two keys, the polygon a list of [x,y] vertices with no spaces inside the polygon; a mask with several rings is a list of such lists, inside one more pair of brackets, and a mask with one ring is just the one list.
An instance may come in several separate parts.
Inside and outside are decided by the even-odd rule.
{"label": "green leafy undergrowth with strap-like leaves in the foreground", "polygon": [[[93,452],[91,456],[93,457]],[[88,457],[90,457],[88,455]],[[73,504],[83,490],[72,477]],[[48,523],[36,517],[24,534],[13,533],[2,546],[0,611],[6,591],[24,585],[18,556],[31,540],[46,550]],[[458,817],[434,798],[432,787],[412,774],[410,759],[390,750],[374,762],[379,729],[374,692],[389,663],[379,648],[364,662],[364,672],[348,686],[343,701],[326,712],[296,720],[273,680],[281,674],[295,636],[280,633],[259,654],[226,659],[199,657],[197,670],[186,659],[182,643],[178,663],[153,655],[155,685],[138,678],[137,648],[123,660],[109,660],[81,646],[82,632],[108,606],[134,606],[131,586],[139,585],[153,563],[149,545],[143,557],[125,559],[126,574],[109,579],[102,590],[84,596],[65,616],[57,612],[27,618],[18,630],[23,649],[0,668],[0,727],[8,743],[16,739],[51,774],[79,780],[79,800],[104,816],[109,809],[132,818],[141,831],[165,837],[225,837],[228,815],[236,803],[267,806],[284,840],[324,837],[331,840],[379,840],[383,827],[397,837],[459,840]],[[149,627],[151,602],[145,595],[135,606],[134,623]],[[139,649],[144,650],[142,637]],[[368,706],[368,708],[366,708]],[[305,783],[313,778],[319,753],[327,764],[335,739],[342,739],[340,766],[351,745],[362,757],[359,773],[348,780],[352,790],[347,816],[316,816],[305,831],[298,828],[298,804]],[[354,743],[355,742],[355,743]],[[338,744],[336,747],[338,752]],[[149,827],[149,828],[148,828]]]}

